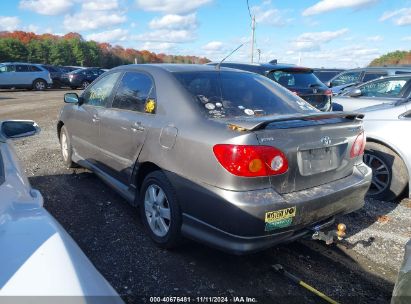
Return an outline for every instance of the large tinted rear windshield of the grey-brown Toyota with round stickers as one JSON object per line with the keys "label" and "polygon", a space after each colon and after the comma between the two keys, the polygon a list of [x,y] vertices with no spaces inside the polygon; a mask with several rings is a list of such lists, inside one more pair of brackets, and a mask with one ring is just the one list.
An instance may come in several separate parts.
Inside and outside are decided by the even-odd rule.
{"label": "large tinted rear windshield of the grey-brown Toyota with round stickers", "polygon": [[253,73],[174,73],[199,107],[212,118],[317,112],[270,79]]}

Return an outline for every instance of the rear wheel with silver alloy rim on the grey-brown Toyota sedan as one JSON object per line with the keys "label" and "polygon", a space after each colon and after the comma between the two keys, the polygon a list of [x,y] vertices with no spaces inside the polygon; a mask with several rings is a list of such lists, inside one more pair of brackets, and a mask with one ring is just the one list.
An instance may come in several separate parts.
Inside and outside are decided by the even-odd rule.
{"label": "rear wheel with silver alloy rim on the grey-brown Toyota sedan", "polygon": [[[160,201],[159,197],[163,199]],[[140,215],[150,238],[157,246],[170,249],[179,245],[180,206],[175,191],[163,172],[154,171],[144,179],[140,191]]]}

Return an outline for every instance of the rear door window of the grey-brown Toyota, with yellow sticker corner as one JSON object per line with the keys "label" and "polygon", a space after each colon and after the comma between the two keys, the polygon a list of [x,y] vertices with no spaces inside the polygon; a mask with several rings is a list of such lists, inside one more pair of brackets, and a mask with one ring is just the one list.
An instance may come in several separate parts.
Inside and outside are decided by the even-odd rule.
{"label": "rear door window of the grey-brown Toyota, with yellow sticker corner", "polygon": [[[121,79],[112,107],[146,113],[146,103],[149,99],[155,99],[153,80],[143,73],[126,72]],[[150,113],[154,113],[154,110]]]}

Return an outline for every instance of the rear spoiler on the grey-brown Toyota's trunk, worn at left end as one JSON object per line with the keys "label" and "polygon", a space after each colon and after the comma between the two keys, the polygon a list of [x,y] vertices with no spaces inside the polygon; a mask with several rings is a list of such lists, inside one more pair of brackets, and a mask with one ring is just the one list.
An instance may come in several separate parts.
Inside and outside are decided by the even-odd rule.
{"label": "rear spoiler on the grey-brown Toyota's trunk, worn at left end", "polygon": [[259,117],[258,119],[232,119],[229,121],[228,126],[231,129],[238,131],[256,131],[264,129],[269,124],[275,122],[284,122],[292,120],[322,120],[332,118],[345,118],[355,120],[364,118],[364,114],[353,112],[321,112],[315,114],[282,115],[273,118]]}

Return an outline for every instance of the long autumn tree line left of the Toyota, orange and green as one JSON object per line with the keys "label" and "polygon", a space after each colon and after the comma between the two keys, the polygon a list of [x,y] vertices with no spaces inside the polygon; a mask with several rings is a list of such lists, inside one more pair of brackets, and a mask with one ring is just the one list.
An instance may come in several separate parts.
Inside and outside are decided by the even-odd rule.
{"label": "long autumn tree line left of the Toyota, orange and green", "polygon": [[0,62],[22,61],[52,65],[115,66],[138,63],[207,63],[205,57],[166,55],[147,50],[86,41],[78,33],[64,36],[15,31],[0,32]]}

